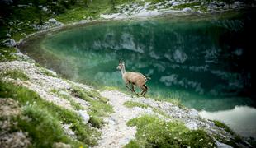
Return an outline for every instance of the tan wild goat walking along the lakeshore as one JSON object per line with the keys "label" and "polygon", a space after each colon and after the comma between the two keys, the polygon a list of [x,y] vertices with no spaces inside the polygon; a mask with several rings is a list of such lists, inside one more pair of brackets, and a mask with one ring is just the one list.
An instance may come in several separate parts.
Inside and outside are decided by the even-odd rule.
{"label": "tan wild goat walking along the lakeshore", "polygon": [[[126,83],[126,87],[131,92],[134,92],[137,96],[139,96],[139,94],[135,92],[134,85],[139,86],[142,90],[140,95],[143,95],[145,97],[145,94],[148,91],[148,86],[146,86],[145,83],[146,81],[148,81],[148,79],[143,74],[141,74],[140,72],[126,72],[125,62],[122,62],[121,60],[116,69],[121,70],[121,76]],[[131,88],[128,86],[128,84],[131,85]]]}

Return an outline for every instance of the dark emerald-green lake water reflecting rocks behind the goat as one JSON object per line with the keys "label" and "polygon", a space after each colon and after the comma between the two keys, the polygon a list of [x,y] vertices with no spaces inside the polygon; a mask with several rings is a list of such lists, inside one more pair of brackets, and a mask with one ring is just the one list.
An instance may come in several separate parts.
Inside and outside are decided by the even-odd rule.
{"label": "dark emerald-green lake water reflecting rocks behind the goat", "polygon": [[254,107],[255,14],[107,21],[48,33],[21,49],[79,82],[125,90],[116,71],[123,59],[126,71],[151,77],[151,96],[208,112]]}

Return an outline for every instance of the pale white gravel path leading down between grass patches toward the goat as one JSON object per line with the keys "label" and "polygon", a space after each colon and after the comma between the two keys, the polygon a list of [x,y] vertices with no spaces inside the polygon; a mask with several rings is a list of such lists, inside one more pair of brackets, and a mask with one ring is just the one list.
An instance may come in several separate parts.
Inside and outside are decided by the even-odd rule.
{"label": "pale white gravel path leading down between grass patches toward the goat", "polygon": [[118,91],[102,91],[101,95],[109,99],[109,103],[114,108],[114,113],[110,117],[105,118],[107,125],[102,128],[102,139],[96,147],[123,147],[130,140],[135,139],[136,128],[127,127],[126,123],[131,118],[139,117],[142,114],[154,114],[151,108],[141,109],[126,108],[123,104],[131,98]]}

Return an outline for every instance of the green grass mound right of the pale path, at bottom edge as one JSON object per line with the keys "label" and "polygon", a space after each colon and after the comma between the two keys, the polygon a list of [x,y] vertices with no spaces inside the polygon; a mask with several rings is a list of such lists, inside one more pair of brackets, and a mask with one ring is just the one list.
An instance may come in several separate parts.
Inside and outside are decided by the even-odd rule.
{"label": "green grass mound right of the pale path, at bottom edge", "polygon": [[136,139],[130,147],[215,147],[215,141],[203,130],[190,131],[178,122],[165,122],[159,118],[145,115],[131,119],[128,126],[136,126]]}

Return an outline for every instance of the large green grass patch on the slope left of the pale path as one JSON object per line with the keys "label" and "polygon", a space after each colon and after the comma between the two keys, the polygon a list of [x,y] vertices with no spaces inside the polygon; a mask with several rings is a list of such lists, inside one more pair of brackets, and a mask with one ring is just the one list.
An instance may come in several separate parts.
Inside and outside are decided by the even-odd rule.
{"label": "large green grass patch on the slope left of the pale path", "polygon": [[[24,109],[24,116],[31,118],[17,118],[17,130],[28,132],[35,147],[51,147],[54,142],[69,143],[73,147],[97,144],[100,132],[84,124],[77,113],[41,99],[26,87],[0,81],[0,98],[17,100]],[[72,124],[71,129],[78,136],[78,141],[73,141],[64,134],[60,122]]]}

